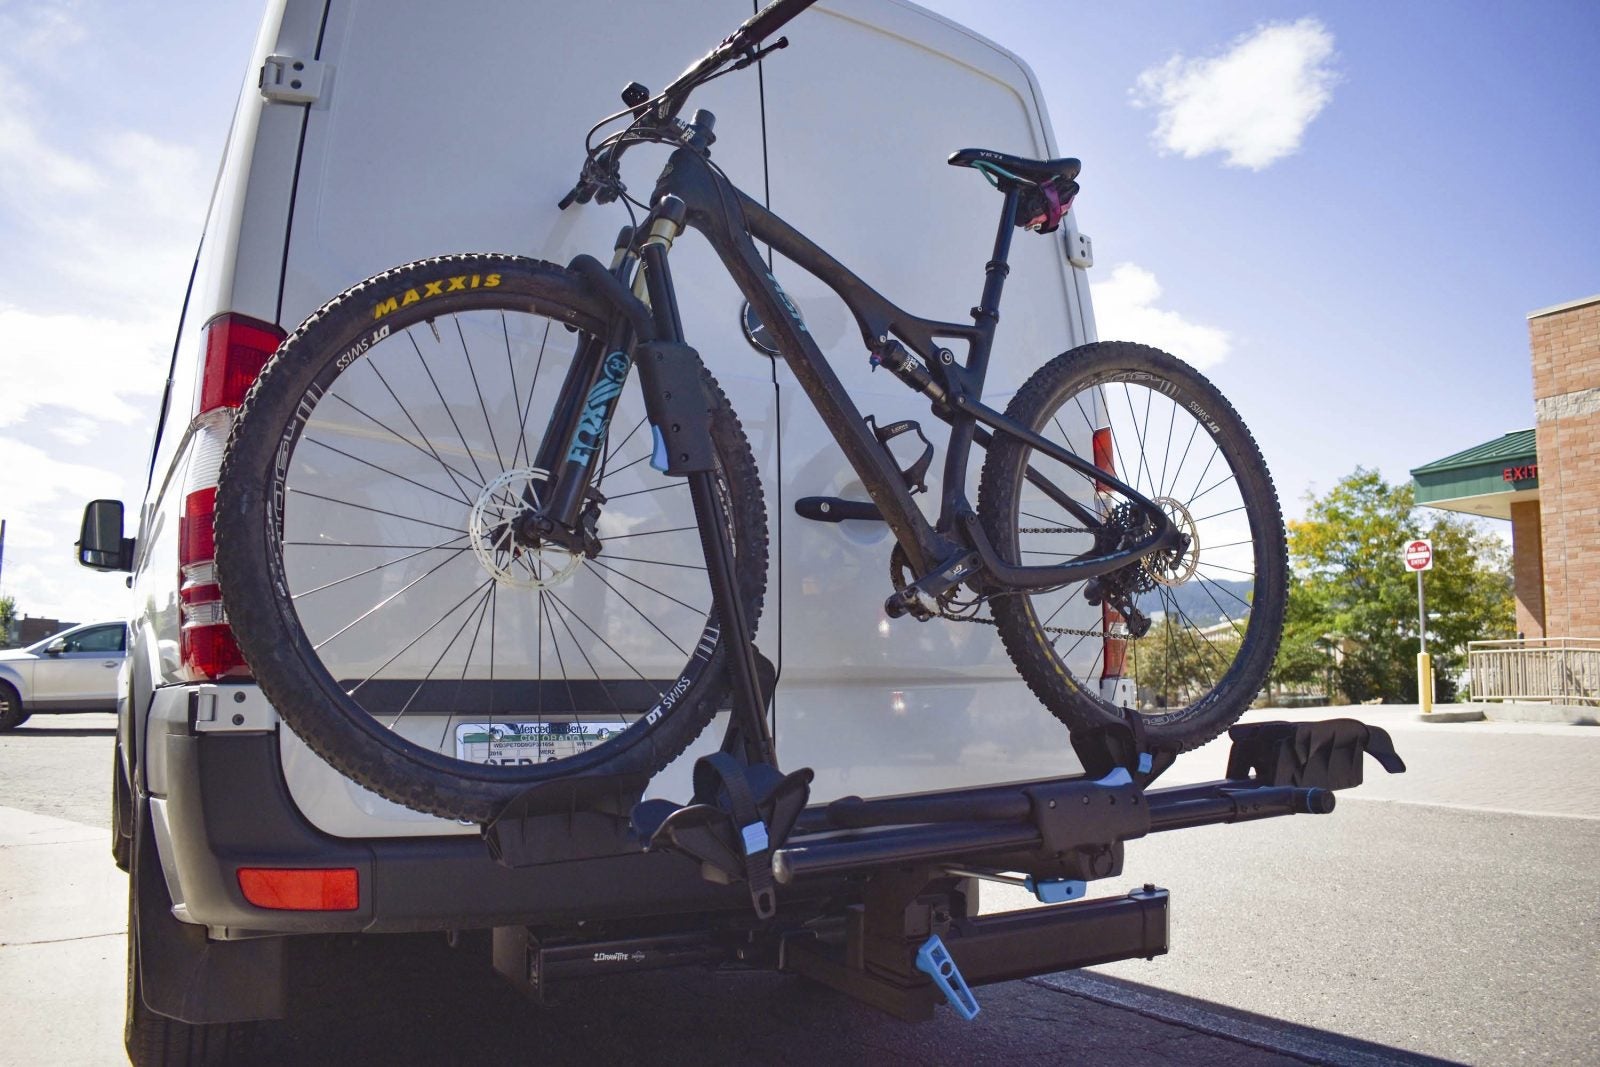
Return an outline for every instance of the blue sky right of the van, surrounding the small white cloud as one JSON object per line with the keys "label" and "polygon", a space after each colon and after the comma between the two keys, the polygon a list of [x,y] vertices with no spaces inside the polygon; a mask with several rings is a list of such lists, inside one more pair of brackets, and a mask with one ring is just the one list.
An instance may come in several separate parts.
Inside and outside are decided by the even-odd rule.
{"label": "blue sky right of the van, surrounding the small white cloud", "polygon": [[[1229,334],[1206,373],[1286,512],[1357,464],[1398,480],[1533,426],[1526,314],[1600,293],[1600,5],[931,6],[1034,67],[1085,162],[1094,274],[1138,264],[1163,309]],[[1331,86],[1293,154],[1251,170],[1152,141],[1142,72],[1302,19]]]}

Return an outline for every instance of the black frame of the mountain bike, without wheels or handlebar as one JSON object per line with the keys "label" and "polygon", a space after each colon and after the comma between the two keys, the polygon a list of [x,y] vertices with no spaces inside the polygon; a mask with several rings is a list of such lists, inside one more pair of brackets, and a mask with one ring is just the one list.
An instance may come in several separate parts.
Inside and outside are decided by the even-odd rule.
{"label": "black frame of the mountain bike, without wheels or handlebar", "polygon": [[[667,160],[651,198],[656,208],[634,235],[634,248],[613,262],[613,274],[619,282],[627,283],[632,280],[629,272],[637,262],[643,270],[643,278],[642,285],[634,285],[634,288],[648,294],[658,336],[683,341],[677,301],[666,267],[670,240],[661,240],[659,227],[654,226],[661,218],[662,203],[669,198],[682,202],[688,227],[710,242],[739,291],[771,333],[795,381],[810,397],[883,522],[894,533],[914,573],[923,577],[942,571],[941,576],[947,579],[946,587],[957,581],[973,581],[982,574],[987,584],[997,590],[1051,589],[1128,566],[1171,544],[1176,539],[1176,528],[1158,504],[1120,482],[1114,474],[1008,419],[979,400],[995,326],[1000,320],[1000,296],[1010,272],[1006,258],[1011,234],[1016,229],[1019,195],[1016,186],[1005,190],[994,254],[986,269],[982,296],[973,309],[971,325],[922,318],[906,312],[763,205],[739,192],[710,165],[704,149],[696,147],[677,149]],[[656,237],[651,237],[653,230],[658,230]],[[784,294],[755,246],[757,240],[765,242],[776,253],[834,290],[854,315],[862,341],[874,358],[912,389],[926,395],[933,403],[933,413],[949,422],[950,438],[944,458],[938,523],[928,523],[912,501],[899,467],[872,434],[827,357],[811,339],[800,312]],[[947,347],[939,344],[941,341],[966,342],[966,358],[957,360]],[[613,328],[613,336],[608,338],[603,349],[611,352],[622,342],[624,338],[618,336],[618,330]],[[910,349],[909,354],[906,347]],[[590,352],[594,355],[582,360],[586,366],[574,362],[573,373],[563,387],[557,418],[550,426],[552,434],[546,437],[547,445],[550,442],[576,443],[578,435],[586,432],[578,424],[579,408],[584,397],[597,395],[594,390],[600,374],[600,347],[590,346]],[[614,402],[605,411],[606,422],[610,422],[611,406]],[[1096,545],[1096,552],[1069,563],[1053,566],[1006,563],[976,522],[976,514],[966,498],[966,466],[971,446],[974,442],[987,446],[992,442],[989,430],[1018,438],[1045,456],[1123,494],[1149,515],[1155,533],[1133,545],[1107,550],[1099,550],[1101,545]],[[549,454],[546,458],[555,459]],[[557,470],[550,510],[565,514],[563,518],[571,522],[589,480],[589,464],[562,462],[558,467],[546,466],[546,469]],[[1027,480],[1088,530],[1104,528],[1104,520],[1093,507],[1072,499],[1032,467],[1027,470]]]}

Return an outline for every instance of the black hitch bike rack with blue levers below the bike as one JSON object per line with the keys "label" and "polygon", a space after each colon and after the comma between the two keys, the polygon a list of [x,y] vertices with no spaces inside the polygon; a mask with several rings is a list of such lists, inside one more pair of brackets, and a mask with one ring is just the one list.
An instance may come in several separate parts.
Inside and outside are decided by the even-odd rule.
{"label": "black hitch bike rack with blue levers below the bike", "polygon": [[[909,1021],[939,1003],[971,1019],[976,985],[1168,950],[1166,889],[1083,899],[1090,881],[1122,873],[1125,841],[1328,814],[1334,790],[1362,784],[1366,755],[1405,771],[1386,731],[1349,718],[1235,725],[1229,736],[1226,777],[1197,785],[1150,789],[1174,753],[1139,752],[1128,725],[1074,736],[1083,765],[1104,771],[1093,777],[808,805],[810,771],[736,758],[736,715],[723,750],[696,765],[688,805],[640,803],[642,777],[552,782],[485,840],[509,867],[645,849],[661,864],[699,864],[709,886],[744,885],[750,907],[723,893],[694,915],[501,926],[494,966],[541,1001],[574,979],[709,965],[800,974]],[[986,880],[1024,886],[1042,907],[978,915]]]}

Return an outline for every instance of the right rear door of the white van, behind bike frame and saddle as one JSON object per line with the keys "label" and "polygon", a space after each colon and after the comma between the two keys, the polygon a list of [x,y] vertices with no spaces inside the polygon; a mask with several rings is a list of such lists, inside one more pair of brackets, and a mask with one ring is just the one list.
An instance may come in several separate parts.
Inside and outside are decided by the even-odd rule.
{"label": "right rear door of the white van, behind bike frame and saddle", "polygon": [[[1054,157],[1032,72],[947,19],[899,0],[824,0],[787,30],[795,46],[766,62],[771,208],[906,310],[971,322],[1002,198],[965,147]],[[1070,218],[1070,216],[1069,216]],[[1088,285],[1054,237],[1018,232],[984,400],[1005,408],[1042,363],[1090,338]],[[920,496],[938,517],[944,424],[890,374],[874,374],[843,302],[782,261],[776,277],[851,400],[878,426],[917,419],[938,446]],[[952,346],[965,358],[960,346]],[[1067,731],[1040,707],[994,627],[888,619],[893,539],[878,522],[798,517],[802,496],[864,501],[854,472],[787,368],[782,525],[779,750],[816,771],[813,798],[912,792],[1061,774],[1075,766]],[[920,443],[893,451],[915,459]],[[904,454],[902,454],[904,453]],[[978,501],[984,453],[973,450]],[[1099,625],[1082,606],[1067,625]]]}

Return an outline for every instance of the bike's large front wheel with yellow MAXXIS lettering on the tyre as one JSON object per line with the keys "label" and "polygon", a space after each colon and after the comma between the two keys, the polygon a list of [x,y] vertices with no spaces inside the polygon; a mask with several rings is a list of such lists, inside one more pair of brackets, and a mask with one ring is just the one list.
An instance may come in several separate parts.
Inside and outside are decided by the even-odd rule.
{"label": "bike's large front wheel with yellow MAXXIS lettering on the tyre", "polygon": [[[542,781],[650,774],[722,704],[698,517],[688,482],[648,464],[638,389],[590,459],[598,552],[507,533],[547,488],[542,437],[606,322],[550,264],[421,261],[312,315],[240,408],[214,523],[227,619],[294,733],[390,800],[482,822]],[[754,625],[760,480],[702,384]]]}

